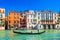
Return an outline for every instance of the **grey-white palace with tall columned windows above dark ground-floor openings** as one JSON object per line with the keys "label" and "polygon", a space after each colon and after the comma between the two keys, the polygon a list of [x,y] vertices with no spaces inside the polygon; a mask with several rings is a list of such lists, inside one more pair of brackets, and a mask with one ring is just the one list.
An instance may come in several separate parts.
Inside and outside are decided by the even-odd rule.
{"label": "grey-white palace with tall columned windows above dark ground-floor openings", "polygon": [[40,29],[55,29],[56,14],[52,11],[41,10],[38,12],[40,20]]}

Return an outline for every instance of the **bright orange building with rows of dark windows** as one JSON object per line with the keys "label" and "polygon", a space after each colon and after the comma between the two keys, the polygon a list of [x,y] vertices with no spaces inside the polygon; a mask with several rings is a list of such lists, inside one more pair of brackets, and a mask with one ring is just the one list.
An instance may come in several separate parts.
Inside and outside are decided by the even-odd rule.
{"label": "bright orange building with rows of dark windows", "polygon": [[8,13],[8,24],[9,26],[19,26],[20,25],[20,12],[10,11]]}

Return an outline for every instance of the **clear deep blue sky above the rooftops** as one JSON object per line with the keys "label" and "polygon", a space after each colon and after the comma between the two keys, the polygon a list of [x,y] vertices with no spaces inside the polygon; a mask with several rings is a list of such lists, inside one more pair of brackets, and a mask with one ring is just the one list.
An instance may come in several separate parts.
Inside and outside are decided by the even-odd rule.
{"label": "clear deep blue sky above the rooftops", "polygon": [[52,10],[58,12],[60,11],[60,0],[0,0],[0,8],[5,8],[5,15],[12,10]]}

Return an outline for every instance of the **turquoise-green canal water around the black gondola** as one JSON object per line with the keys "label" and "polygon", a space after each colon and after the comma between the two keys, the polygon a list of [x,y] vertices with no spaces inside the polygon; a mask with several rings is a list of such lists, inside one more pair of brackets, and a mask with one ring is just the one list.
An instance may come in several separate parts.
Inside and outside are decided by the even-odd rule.
{"label": "turquoise-green canal water around the black gondola", "polygon": [[38,35],[15,34],[12,30],[0,31],[0,40],[60,40],[60,30],[46,30]]}

